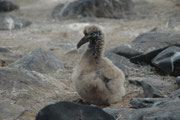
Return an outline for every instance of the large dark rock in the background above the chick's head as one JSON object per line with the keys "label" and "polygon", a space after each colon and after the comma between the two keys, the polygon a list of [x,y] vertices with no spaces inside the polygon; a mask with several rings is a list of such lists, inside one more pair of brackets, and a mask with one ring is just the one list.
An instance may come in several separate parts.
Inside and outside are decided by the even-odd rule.
{"label": "large dark rock in the background above the chick's head", "polygon": [[56,6],[52,16],[59,19],[122,18],[132,9],[132,0],[76,0]]}

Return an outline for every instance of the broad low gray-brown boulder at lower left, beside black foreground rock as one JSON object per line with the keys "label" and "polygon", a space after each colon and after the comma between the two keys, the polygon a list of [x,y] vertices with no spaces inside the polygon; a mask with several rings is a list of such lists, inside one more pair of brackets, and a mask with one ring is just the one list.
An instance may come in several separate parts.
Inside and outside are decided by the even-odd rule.
{"label": "broad low gray-brown boulder at lower left, beside black foreground rock", "polygon": [[[35,116],[27,114],[35,115],[44,105],[66,99],[68,92],[67,86],[61,80],[49,75],[25,69],[0,67],[0,101],[10,101],[23,106],[25,112],[21,115],[18,112],[18,119],[34,119]],[[11,113],[16,113],[13,109],[10,111],[6,110],[6,107],[1,107],[1,110],[6,111],[5,116],[9,115],[7,119],[1,120],[14,120],[16,117],[11,119],[10,116]]]}

